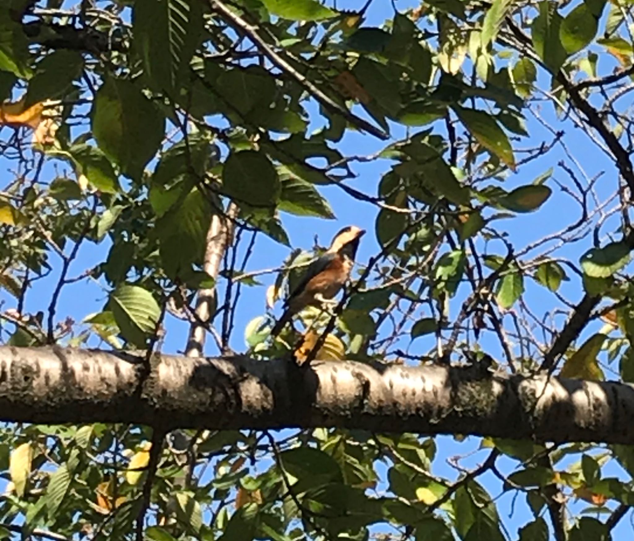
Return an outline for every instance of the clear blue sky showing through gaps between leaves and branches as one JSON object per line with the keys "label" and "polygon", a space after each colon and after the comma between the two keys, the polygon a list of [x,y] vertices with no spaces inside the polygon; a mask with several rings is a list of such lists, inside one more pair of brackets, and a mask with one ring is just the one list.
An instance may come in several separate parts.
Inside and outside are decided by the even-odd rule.
{"label": "clear blue sky showing through gaps between leaves and branches", "polygon": [[[339,1],[337,8],[354,10],[358,9],[364,3],[365,0]],[[65,6],[73,4],[74,2],[66,2]],[[418,3],[410,0],[398,0],[394,4],[396,8],[402,11]],[[392,3],[377,0],[372,3],[368,10],[365,25],[379,25],[384,20],[391,19],[392,16]],[[610,61],[606,61],[604,57],[600,59],[600,72],[607,73],[611,70],[611,67],[612,63]],[[540,76],[538,83],[542,88],[548,87],[548,81],[543,74]],[[314,106],[310,108],[312,110],[315,109]],[[360,108],[356,108],[355,112],[361,116],[366,116]],[[611,160],[600,153],[583,130],[574,127],[570,120],[559,122],[549,103],[544,102],[543,105],[541,105],[541,114],[552,125],[556,125],[557,129],[565,131],[564,142],[568,148],[571,149],[579,165],[585,170],[588,177],[593,177],[600,172],[605,172],[597,184],[598,194],[605,197],[607,194],[612,193],[617,186],[618,175]],[[529,148],[537,146],[542,141],[548,143],[552,140],[552,134],[544,129],[531,115],[527,115],[527,127],[531,136],[516,143],[517,148]],[[393,139],[401,139],[405,134],[404,129],[398,126],[393,126],[393,128]],[[441,134],[444,133],[442,128],[437,129],[437,132]],[[2,135],[6,136],[4,130]],[[348,132],[340,142],[338,148],[344,155],[370,155],[383,148],[386,144],[384,141],[379,141],[372,136],[366,136],[359,132]],[[557,163],[560,160],[569,163],[569,158],[566,156],[563,148],[556,146],[545,156],[520,167],[517,173],[512,174],[508,178],[504,187],[511,189],[523,184],[530,184],[535,177],[538,177],[538,175],[550,167],[554,168],[553,177],[555,179],[564,184],[568,184],[569,180],[566,174],[562,169],[557,167]],[[0,158],[0,184],[3,186],[13,178],[12,175],[6,172],[8,169],[7,166],[11,167],[11,165],[6,163],[6,160]],[[350,185],[361,191],[365,191],[365,193],[374,195],[377,191],[378,180],[388,169],[389,162],[387,161],[355,163],[353,170],[358,174],[358,178],[351,181]],[[51,166],[48,167],[46,172],[50,175],[54,174]],[[53,177],[46,177],[46,175],[44,175],[44,178]],[[523,246],[531,241],[539,239],[550,232],[557,231],[577,219],[579,212],[578,207],[571,202],[566,194],[560,192],[555,184],[549,182],[549,186],[553,188],[553,196],[538,212],[519,215],[514,219],[505,220],[505,222],[498,222],[496,224],[497,227],[508,232],[509,238],[512,240],[516,250],[521,250]],[[368,230],[368,234],[363,238],[358,254],[359,262],[366,262],[378,252],[377,241],[373,233],[378,209],[370,203],[351,200],[349,196],[335,186],[322,188],[321,193],[329,201],[337,219],[325,222],[319,219],[298,218],[283,214],[283,225],[288,231],[292,246],[310,248],[313,245],[315,234],[318,234],[321,245],[327,245],[332,235],[338,231],[340,227],[355,224]],[[608,226],[604,227],[603,231],[611,231],[609,227],[610,223],[614,222],[608,222]],[[614,229],[614,227],[612,227],[612,229]],[[575,245],[562,247],[557,252],[557,255],[568,257],[573,260],[573,262],[578,262],[583,252],[590,247],[590,240],[588,239]],[[75,260],[71,267],[69,276],[77,276],[84,272],[84,270],[93,267],[96,263],[105,260],[108,248],[108,241],[103,241],[99,245],[84,243],[79,251],[79,257],[77,257],[77,260]],[[281,261],[288,256],[289,252],[290,250],[287,247],[275,243],[275,241],[266,238],[264,235],[259,235],[254,255],[250,259],[247,270],[277,267]],[[493,253],[503,253],[503,251],[498,247],[498,251],[493,250]],[[54,272],[51,273],[51,276],[47,279],[34,283],[32,290],[29,292],[29,295],[27,295],[27,302],[25,304],[25,310],[27,310],[27,312],[34,313],[37,310],[46,310],[51,287],[56,283],[58,273],[60,272],[60,262],[54,254],[51,255],[51,261],[54,264]],[[246,324],[252,318],[264,314],[266,286],[273,283],[274,279],[275,275],[263,276],[261,277],[261,281],[264,283],[264,286],[243,288],[236,316],[236,330],[231,341],[231,347],[236,351],[245,350],[246,347],[243,340],[242,329],[245,328]],[[541,314],[546,312],[552,309],[557,303],[550,293],[546,293],[543,288],[534,286],[530,279],[527,279],[525,284],[526,293],[524,294],[524,298],[536,313]],[[564,283],[561,293],[571,300],[571,302],[578,302],[582,296],[581,284],[578,278],[571,274],[571,281]],[[453,303],[453,310],[455,310],[455,307],[462,298],[463,296],[461,296],[459,291]],[[7,296],[4,291],[0,292],[0,300],[4,302],[3,309],[15,306],[13,300],[10,296]],[[82,280],[67,286],[60,297],[57,312],[58,321],[62,321],[67,315],[73,317],[76,321],[81,321],[87,314],[98,312],[106,300],[107,288],[105,288],[103,284],[100,286],[94,283],[94,281]],[[276,309],[276,313],[279,314],[279,307]],[[452,314],[455,315],[455,312],[452,311]],[[560,315],[557,321],[561,324],[564,321],[563,316]],[[167,319],[166,325],[167,336],[164,343],[164,352],[176,353],[182,351],[186,342],[188,326],[184,322],[177,321],[171,317]],[[592,327],[588,333],[591,331],[596,332],[597,328]],[[208,345],[209,348],[207,352],[209,354],[215,353],[212,348],[212,341],[209,341]],[[483,345],[485,348],[491,348],[491,353],[496,353],[495,341],[486,339],[483,341]],[[410,347],[408,343],[403,343],[402,346]],[[429,340],[419,338],[411,345],[410,352],[413,354],[424,353],[429,347]],[[434,473],[451,479],[456,478],[456,470],[447,463],[448,458],[456,455],[465,456],[465,459],[460,461],[461,466],[464,468],[474,468],[477,464],[484,461],[484,458],[489,452],[488,450],[474,452],[479,447],[479,443],[479,438],[467,438],[465,442],[457,443],[451,436],[440,436],[437,438],[438,454],[436,461],[434,461]],[[569,462],[578,459],[579,456],[571,457]],[[498,466],[501,472],[510,473],[510,471],[513,471],[513,469],[517,467],[517,462],[511,461],[510,459],[500,459]],[[384,471],[379,471],[379,473],[384,475]],[[630,478],[629,475],[614,462],[605,466],[604,475],[619,476],[626,479]],[[496,499],[498,511],[503,518],[503,523],[510,532],[510,538],[513,540],[517,539],[517,529],[531,521],[533,517],[532,512],[526,506],[525,497],[519,495],[517,499],[515,499],[515,492],[503,493],[500,481],[491,473],[484,474],[480,478],[480,482],[493,497],[498,497],[498,495],[502,494],[499,499]],[[583,509],[584,507],[586,507],[586,504],[583,503],[572,504],[570,506],[573,511],[579,511],[579,509]],[[628,514],[626,518],[621,520],[618,528],[614,530],[614,538],[631,538],[633,534],[634,527],[631,524],[631,514]]]}

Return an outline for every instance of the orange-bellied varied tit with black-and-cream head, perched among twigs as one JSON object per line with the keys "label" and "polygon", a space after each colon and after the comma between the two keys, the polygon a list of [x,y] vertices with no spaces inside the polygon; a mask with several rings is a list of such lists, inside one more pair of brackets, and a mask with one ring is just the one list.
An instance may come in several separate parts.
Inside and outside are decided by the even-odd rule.
{"label": "orange-bellied varied tit with black-and-cream head, perched among twigs", "polygon": [[364,234],[365,229],[349,226],[335,235],[330,248],[309,265],[304,276],[288,295],[284,313],[273,327],[271,336],[280,334],[293,315],[305,307],[321,307],[333,303],[333,296],[339,293],[350,277],[359,240]]}

